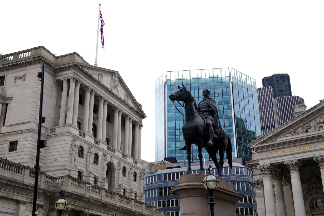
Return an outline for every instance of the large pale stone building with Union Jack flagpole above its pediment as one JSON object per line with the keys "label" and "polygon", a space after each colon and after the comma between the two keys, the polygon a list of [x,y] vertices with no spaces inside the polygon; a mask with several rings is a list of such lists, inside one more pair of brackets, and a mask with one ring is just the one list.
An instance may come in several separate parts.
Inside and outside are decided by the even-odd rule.
{"label": "large pale stone building with Union Jack flagpole above its pediment", "polygon": [[0,56],[0,215],[31,213],[43,63],[40,215],[64,189],[63,215],[163,215],[144,203],[146,116],[120,74],[42,46]]}

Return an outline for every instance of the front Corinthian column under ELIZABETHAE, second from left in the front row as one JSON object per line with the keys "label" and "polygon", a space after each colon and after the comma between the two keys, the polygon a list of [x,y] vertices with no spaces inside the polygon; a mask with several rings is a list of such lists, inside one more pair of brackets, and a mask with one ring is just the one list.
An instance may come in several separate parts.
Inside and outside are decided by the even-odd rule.
{"label": "front Corinthian column under ELIZABETHAE, second from left in the front row", "polygon": [[295,215],[306,216],[302,184],[300,182],[300,175],[299,175],[299,167],[303,165],[303,162],[299,159],[295,159],[295,160],[284,162],[284,165],[288,166],[290,171]]}

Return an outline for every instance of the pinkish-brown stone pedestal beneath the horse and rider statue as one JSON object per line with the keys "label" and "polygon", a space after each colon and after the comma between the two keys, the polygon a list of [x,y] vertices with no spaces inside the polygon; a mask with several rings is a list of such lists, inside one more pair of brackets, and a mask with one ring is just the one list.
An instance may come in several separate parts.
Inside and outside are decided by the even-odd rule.
{"label": "pinkish-brown stone pedestal beneath the horse and rider statue", "polygon": [[[180,177],[180,184],[173,187],[172,194],[179,196],[180,214],[210,216],[208,205],[209,192],[203,187],[204,174],[184,174]],[[214,190],[214,215],[235,216],[235,202],[244,198],[234,192],[231,183],[220,180]]]}

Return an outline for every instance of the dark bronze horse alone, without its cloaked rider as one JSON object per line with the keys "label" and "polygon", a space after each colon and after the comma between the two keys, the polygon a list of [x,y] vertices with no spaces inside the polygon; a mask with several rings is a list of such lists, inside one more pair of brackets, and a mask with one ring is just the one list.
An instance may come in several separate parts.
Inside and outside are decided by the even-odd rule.
{"label": "dark bronze horse alone, without its cloaked rider", "polygon": [[[191,145],[195,144],[198,147],[198,157],[200,161],[200,174],[203,174],[203,148],[206,149],[210,158],[214,161],[218,171],[217,178],[222,177],[222,170],[224,165],[224,154],[226,152],[227,162],[232,168],[233,155],[232,155],[232,142],[225,128],[221,128],[223,131],[222,137],[213,137],[213,145],[208,146],[208,136],[205,130],[205,121],[201,116],[201,113],[197,111],[197,103],[195,98],[191,95],[190,91],[182,84],[182,87],[178,85],[178,89],[169,95],[171,101],[183,101],[185,112],[185,122],[182,125],[182,132],[184,142],[187,148],[188,168],[185,174],[191,173]],[[217,160],[217,151],[219,151],[219,163]]]}

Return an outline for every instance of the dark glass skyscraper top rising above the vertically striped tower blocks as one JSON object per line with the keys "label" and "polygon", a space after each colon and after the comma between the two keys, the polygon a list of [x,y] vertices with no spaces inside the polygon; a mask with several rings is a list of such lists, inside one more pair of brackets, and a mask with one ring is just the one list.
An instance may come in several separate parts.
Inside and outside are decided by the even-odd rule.
{"label": "dark glass skyscraper top rising above the vertically striped tower blocks", "polygon": [[291,94],[290,77],[288,74],[273,74],[262,79],[262,87],[271,86],[274,97],[289,97]]}

